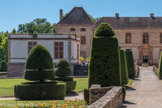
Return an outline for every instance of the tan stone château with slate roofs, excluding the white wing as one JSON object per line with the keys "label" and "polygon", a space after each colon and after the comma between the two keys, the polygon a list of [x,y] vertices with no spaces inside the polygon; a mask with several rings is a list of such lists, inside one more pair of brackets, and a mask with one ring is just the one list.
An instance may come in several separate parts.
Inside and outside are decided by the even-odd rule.
{"label": "tan stone ch\u00e2teau with slate roofs, excluding the white wing", "polygon": [[[61,14],[63,14],[62,11]],[[89,57],[95,29],[99,24],[106,22],[115,30],[122,49],[133,51],[133,57],[137,64],[158,64],[160,51],[162,51],[162,17],[155,17],[153,13],[150,14],[150,17],[120,17],[117,13],[115,17],[102,17],[97,23],[91,23],[90,20],[87,20],[88,18],[89,16],[82,7],[74,7],[56,25],[56,34],[86,36],[87,42],[81,44],[80,55],[83,56],[82,52],[86,52],[85,57]],[[70,28],[76,28],[76,31],[72,32]],[[80,32],[80,28],[86,28],[87,31]],[[127,33],[131,34],[130,43],[126,42]],[[144,42],[144,33],[148,34],[147,43]]]}

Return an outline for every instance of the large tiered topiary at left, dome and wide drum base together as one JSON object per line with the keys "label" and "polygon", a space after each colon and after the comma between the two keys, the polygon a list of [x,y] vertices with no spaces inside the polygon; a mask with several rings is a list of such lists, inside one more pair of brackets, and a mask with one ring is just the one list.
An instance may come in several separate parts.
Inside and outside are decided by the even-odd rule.
{"label": "large tiered topiary at left, dome and wide drum base together", "polygon": [[22,100],[64,99],[66,85],[51,81],[54,79],[53,66],[47,48],[42,45],[33,47],[26,61],[25,79],[34,82],[15,85],[15,97]]}

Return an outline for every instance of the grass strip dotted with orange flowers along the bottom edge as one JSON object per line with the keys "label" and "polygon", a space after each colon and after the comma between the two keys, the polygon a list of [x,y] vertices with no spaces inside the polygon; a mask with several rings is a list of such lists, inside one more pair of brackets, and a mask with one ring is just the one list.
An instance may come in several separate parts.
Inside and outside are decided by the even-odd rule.
{"label": "grass strip dotted with orange flowers along the bottom edge", "polygon": [[[56,103],[54,103],[56,102]],[[42,101],[15,101],[15,100],[0,100],[0,108],[14,108],[14,107],[23,107],[23,108],[52,108],[52,106],[63,106],[64,104],[68,104],[69,107],[66,108],[73,108],[73,106],[79,108],[82,106],[86,108],[85,101],[83,100],[71,100],[69,103],[65,100],[42,100]],[[42,107],[41,107],[42,106]],[[61,108],[61,107],[59,107]]]}

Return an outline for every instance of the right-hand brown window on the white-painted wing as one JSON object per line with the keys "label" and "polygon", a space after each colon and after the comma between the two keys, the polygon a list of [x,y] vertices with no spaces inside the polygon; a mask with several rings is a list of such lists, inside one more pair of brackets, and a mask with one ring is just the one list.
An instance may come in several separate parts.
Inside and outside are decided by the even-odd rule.
{"label": "right-hand brown window on the white-painted wing", "polygon": [[60,59],[63,58],[64,54],[64,43],[63,42],[55,42],[55,47],[54,47],[54,57],[55,59]]}

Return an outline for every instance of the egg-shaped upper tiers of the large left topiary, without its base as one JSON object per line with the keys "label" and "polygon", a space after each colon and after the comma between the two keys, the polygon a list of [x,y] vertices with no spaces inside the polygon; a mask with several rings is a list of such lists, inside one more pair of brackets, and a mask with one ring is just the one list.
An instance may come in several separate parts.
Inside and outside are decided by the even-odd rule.
{"label": "egg-shaped upper tiers of the large left topiary, without its base", "polygon": [[54,79],[53,66],[53,60],[48,49],[38,44],[33,47],[28,55],[24,77],[33,81]]}

